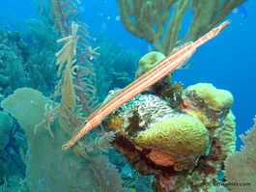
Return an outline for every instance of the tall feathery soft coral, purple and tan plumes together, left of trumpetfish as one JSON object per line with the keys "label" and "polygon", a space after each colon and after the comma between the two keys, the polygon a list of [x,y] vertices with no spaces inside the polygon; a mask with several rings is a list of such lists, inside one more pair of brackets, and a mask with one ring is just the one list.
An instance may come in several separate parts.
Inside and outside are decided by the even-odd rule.
{"label": "tall feathery soft coral, purple and tan plumes together, left of trumpetfish", "polygon": [[[50,126],[55,119],[58,118],[63,130],[71,134],[96,107],[96,89],[93,83],[95,73],[90,60],[96,59],[99,55],[96,52],[99,47],[92,48],[86,40],[89,38],[87,26],[79,21],[75,4],[72,1],[51,1],[51,7],[56,17],[55,24],[64,36],[58,40],[58,42],[64,42],[64,46],[56,53],[58,58],[56,64],[59,65],[57,74],[61,76],[61,80],[57,85],[56,93],[52,96],[55,101],[60,96],[60,103],[47,102],[46,109],[49,110],[44,113],[46,120],[39,123],[36,130],[44,125],[53,137]],[[97,141],[101,141],[100,143],[107,148],[111,140],[102,138],[97,137]],[[87,147],[86,139],[83,142],[84,144],[79,143],[72,150],[77,156],[87,158],[87,153],[92,151]],[[99,149],[106,150],[103,145],[98,146]]]}

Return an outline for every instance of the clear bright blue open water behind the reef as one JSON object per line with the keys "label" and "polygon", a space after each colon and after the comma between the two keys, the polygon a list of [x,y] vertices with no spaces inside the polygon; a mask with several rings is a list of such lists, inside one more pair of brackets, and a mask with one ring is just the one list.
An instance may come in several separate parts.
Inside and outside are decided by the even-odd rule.
{"label": "clear bright blue open water behind the reef", "polygon": [[[30,18],[39,18],[39,9],[32,0],[2,1],[0,27],[18,30]],[[256,1],[242,6],[246,17],[240,12],[230,14],[231,24],[215,39],[198,49],[192,57],[191,69],[177,70],[176,81],[185,87],[199,83],[212,83],[216,88],[230,91],[235,103],[232,110],[236,116],[237,135],[244,133],[253,124],[256,114]],[[127,49],[147,53],[148,45],[130,35],[123,27],[116,1],[81,0],[78,10],[82,20],[90,26],[92,37],[102,31],[107,38],[118,41]],[[238,147],[242,141],[238,139]]]}

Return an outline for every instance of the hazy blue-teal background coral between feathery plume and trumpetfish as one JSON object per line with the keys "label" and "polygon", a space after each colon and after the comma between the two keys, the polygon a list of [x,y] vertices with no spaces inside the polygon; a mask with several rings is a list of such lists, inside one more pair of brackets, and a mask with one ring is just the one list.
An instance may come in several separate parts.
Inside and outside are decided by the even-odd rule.
{"label": "hazy blue-teal background coral between feathery plume and trumpetfish", "polygon": [[104,38],[103,34],[95,36],[91,44],[100,46],[100,55],[92,63],[97,78],[95,87],[100,90],[97,98],[102,102],[110,90],[123,88],[132,82],[141,54],[125,50],[117,41]]}

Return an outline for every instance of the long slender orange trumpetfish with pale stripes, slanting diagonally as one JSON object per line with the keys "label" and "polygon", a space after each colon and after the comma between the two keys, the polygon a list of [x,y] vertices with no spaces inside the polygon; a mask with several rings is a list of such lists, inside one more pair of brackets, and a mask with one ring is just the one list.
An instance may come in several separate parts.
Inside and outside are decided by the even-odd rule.
{"label": "long slender orange trumpetfish with pale stripes, slanting diagonally", "polygon": [[154,85],[157,81],[168,75],[175,69],[178,69],[182,64],[190,58],[196,49],[206,41],[213,39],[222,29],[230,23],[229,20],[224,21],[219,26],[213,28],[205,36],[197,41],[190,41],[176,48],[165,59],[163,59],[155,68],[150,69],[144,75],[140,76],[127,87],[121,90],[109,100],[105,101],[99,109],[92,113],[87,120],[79,127],[79,129],[71,136],[71,139],[62,146],[62,150],[70,149],[82,136],[88,133],[93,128],[100,125],[105,117],[113,111],[120,108],[134,96],[137,96]]}

